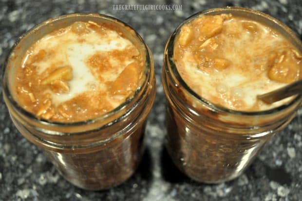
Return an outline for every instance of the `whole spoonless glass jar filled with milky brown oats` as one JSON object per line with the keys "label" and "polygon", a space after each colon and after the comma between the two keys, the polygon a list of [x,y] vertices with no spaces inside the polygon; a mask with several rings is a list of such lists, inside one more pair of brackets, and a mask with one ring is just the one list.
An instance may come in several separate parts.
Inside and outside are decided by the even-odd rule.
{"label": "whole spoonless glass jar filled with milky brown oats", "polygon": [[3,95],[19,132],[85,189],[127,180],[155,97],[151,52],[127,24],[98,14],[42,22],[20,38]]}

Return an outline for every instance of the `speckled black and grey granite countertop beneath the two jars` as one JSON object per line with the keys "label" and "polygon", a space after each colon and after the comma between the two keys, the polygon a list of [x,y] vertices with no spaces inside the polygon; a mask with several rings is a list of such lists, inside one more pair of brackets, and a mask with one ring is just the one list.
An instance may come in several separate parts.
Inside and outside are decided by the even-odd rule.
{"label": "speckled black and grey granite countertop beneath the two jars", "polygon": [[[53,2],[53,3],[51,3]],[[137,172],[122,185],[106,191],[79,189],[58,175],[40,148],[23,138],[0,98],[0,201],[302,201],[302,109],[264,147],[238,179],[219,185],[200,184],[182,175],[163,147],[163,51],[169,35],[191,14],[212,7],[243,6],[264,11],[302,37],[301,0],[150,0],[149,4],[181,4],[178,11],[114,11],[101,0],[0,0],[0,65],[16,39],[35,24],[74,12],[115,16],[135,28],[151,48],[157,95],[146,131],[147,150]],[[131,0],[127,4],[145,3]],[[1,92],[0,92],[1,93]]]}

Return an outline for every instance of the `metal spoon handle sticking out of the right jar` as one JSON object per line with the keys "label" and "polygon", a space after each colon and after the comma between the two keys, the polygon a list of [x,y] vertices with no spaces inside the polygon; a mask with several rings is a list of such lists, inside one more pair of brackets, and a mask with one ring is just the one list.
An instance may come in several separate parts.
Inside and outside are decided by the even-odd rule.
{"label": "metal spoon handle sticking out of the right jar", "polygon": [[270,104],[301,93],[302,93],[302,80],[298,80],[282,88],[276,89],[274,91],[262,95],[258,95],[257,98],[264,101],[265,103]]}

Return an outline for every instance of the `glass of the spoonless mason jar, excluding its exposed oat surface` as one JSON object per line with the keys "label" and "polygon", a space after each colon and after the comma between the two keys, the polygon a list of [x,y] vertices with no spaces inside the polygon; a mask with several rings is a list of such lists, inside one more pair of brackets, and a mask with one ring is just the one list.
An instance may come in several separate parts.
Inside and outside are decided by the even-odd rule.
{"label": "glass of the spoonless mason jar, excluding its exposed oat surface", "polygon": [[[145,61],[141,85],[132,98],[92,120],[62,123],[37,119],[15,99],[16,69],[31,44],[79,20],[113,24],[133,42]],[[3,77],[3,97],[19,132],[43,148],[66,180],[91,190],[118,185],[135,171],[142,156],[146,118],[154,102],[155,87],[153,59],[143,39],[124,22],[98,14],[65,15],[34,27],[15,44]]]}

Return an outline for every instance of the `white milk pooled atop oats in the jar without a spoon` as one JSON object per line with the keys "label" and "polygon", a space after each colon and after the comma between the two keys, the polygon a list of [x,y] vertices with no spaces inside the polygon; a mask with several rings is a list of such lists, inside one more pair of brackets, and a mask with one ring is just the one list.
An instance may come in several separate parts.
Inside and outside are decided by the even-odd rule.
{"label": "white milk pooled atop oats in the jar without a spoon", "polygon": [[[106,85],[100,82],[86,61],[96,52],[105,53],[113,50],[123,50],[128,46],[133,46],[131,41],[122,38],[113,30],[107,30],[106,34],[103,35],[94,30],[89,30],[89,33],[85,35],[78,35],[67,29],[62,34],[46,35],[38,41],[33,54],[45,50],[48,55],[46,59],[33,64],[37,67],[38,74],[41,77],[43,77],[45,71],[52,68],[64,65],[72,66],[73,79],[68,82],[69,93],[56,94],[51,90],[47,91],[51,94],[53,104],[57,105],[84,92],[93,94],[95,91],[106,90]],[[102,76],[105,81],[114,81],[132,60],[119,62],[113,59],[110,62],[116,68]],[[113,101],[112,104],[116,106],[119,103]]]}

